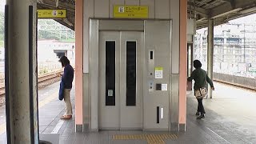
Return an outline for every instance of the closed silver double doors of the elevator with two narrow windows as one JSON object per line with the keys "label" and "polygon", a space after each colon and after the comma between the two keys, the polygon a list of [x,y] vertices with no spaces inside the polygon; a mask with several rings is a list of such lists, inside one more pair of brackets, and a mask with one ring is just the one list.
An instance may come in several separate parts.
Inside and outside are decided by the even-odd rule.
{"label": "closed silver double doors of the elevator with two narrow windows", "polygon": [[99,129],[142,130],[143,32],[99,32]]}

